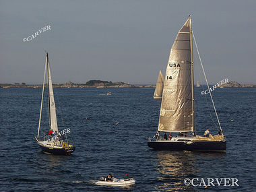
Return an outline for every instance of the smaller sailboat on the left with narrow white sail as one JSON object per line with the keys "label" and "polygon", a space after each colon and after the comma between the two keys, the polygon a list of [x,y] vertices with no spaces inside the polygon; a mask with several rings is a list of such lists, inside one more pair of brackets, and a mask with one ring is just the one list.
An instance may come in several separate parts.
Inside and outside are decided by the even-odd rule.
{"label": "smaller sailboat on the left with narrow white sail", "polygon": [[[41,117],[42,117],[42,106],[44,100],[44,86],[45,86],[45,76],[47,71],[47,79],[48,79],[48,107],[49,107],[49,132],[42,137],[40,135],[40,125],[41,125]],[[41,100],[41,107],[40,107],[40,116],[39,116],[39,123],[38,123],[38,134],[36,141],[39,144],[42,152],[45,154],[71,154],[75,151],[75,146],[73,145],[73,141],[70,137],[70,129],[63,129],[61,132],[58,130],[57,124],[57,115],[56,115],[56,108],[55,108],[55,99],[53,95],[53,83],[51,77],[51,70],[50,70],[50,63],[48,58],[48,53],[46,53],[46,61],[44,67],[44,82],[42,84],[42,100]]]}

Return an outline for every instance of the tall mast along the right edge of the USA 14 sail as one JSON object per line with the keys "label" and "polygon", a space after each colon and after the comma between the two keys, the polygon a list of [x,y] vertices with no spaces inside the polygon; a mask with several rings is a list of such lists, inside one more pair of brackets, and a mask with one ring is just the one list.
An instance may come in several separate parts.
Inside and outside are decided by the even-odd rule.
{"label": "tall mast along the right edge of the USA 14 sail", "polygon": [[190,36],[190,47],[191,47],[191,92],[192,92],[192,134],[195,135],[195,97],[194,97],[194,67],[193,67],[193,38],[192,38],[192,22],[191,15],[189,15],[189,36]]}

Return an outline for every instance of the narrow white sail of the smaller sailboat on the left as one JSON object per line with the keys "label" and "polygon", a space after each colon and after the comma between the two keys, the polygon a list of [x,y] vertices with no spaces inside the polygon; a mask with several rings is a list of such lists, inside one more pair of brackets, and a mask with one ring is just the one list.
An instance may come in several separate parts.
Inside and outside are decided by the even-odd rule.
{"label": "narrow white sail of the smaller sailboat on the left", "polygon": [[47,63],[48,63],[48,85],[49,85],[49,118],[50,118],[50,128],[53,131],[58,132],[58,125],[57,125],[57,116],[56,116],[56,108],[55,108],[55,100],[53,95],[53,82],[51,77],[51,70],[50,70],[50,63],[48,59],[47,53]]}

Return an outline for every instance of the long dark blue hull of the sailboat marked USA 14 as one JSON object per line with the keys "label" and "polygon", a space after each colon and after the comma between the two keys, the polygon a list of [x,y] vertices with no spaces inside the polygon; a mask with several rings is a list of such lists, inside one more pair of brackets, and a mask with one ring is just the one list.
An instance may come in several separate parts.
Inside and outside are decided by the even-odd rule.
{"label": "long dark blue hull of the sailboat marked USA 14", "polygon": [[226,141],[148,141],[154,150],[226,151]]}

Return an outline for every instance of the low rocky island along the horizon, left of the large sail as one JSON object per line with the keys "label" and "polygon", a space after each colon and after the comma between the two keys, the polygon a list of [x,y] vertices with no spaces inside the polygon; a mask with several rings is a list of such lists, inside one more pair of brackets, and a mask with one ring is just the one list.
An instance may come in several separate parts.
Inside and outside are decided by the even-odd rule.
{"label": "low rocky island along the horizon, left of the large sail", "polygon": [[[66,82],[65,84],[53,84],[53,88],[154,88],[156,85],[137,86],[124,82],[108,82],[102,80],[90,80],[86,84],[75,84]],[[25,83],[0,84],[0,88],[42,88],[42,85],[27,85]]]}

